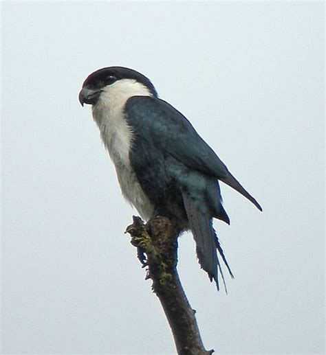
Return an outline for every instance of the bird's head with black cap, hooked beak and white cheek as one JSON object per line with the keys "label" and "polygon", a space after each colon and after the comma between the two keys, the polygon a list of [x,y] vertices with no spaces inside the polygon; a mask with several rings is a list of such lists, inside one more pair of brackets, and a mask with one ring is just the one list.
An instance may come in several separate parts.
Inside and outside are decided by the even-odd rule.
{"label": "bird's head with black cap, hooked beak and white cheek", "polygon": [[127,100],[135,95],[157,96],[151,81],[138,71],[124,67],[107,67],[91,73],[83,83],[79,102],[96,105],[100,100]]}

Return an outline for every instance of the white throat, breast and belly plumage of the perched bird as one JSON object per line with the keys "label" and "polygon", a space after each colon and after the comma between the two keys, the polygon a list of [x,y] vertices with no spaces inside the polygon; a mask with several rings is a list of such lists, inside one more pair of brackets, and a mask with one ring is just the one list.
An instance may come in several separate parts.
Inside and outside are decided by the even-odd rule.
{"label": "white throat, breast and belly plumage of the perched bird", "polygon": [[153,205],[144,194],[131,168],[129,151],[133,144],[133,132],[124,117],[124,104],[131,96],[151,95],[144,85],[131,79],[122,79],[105,87],[96,105],[93,117],[100,128],[100,136],[116,167],[123,196],[148,220]]}

